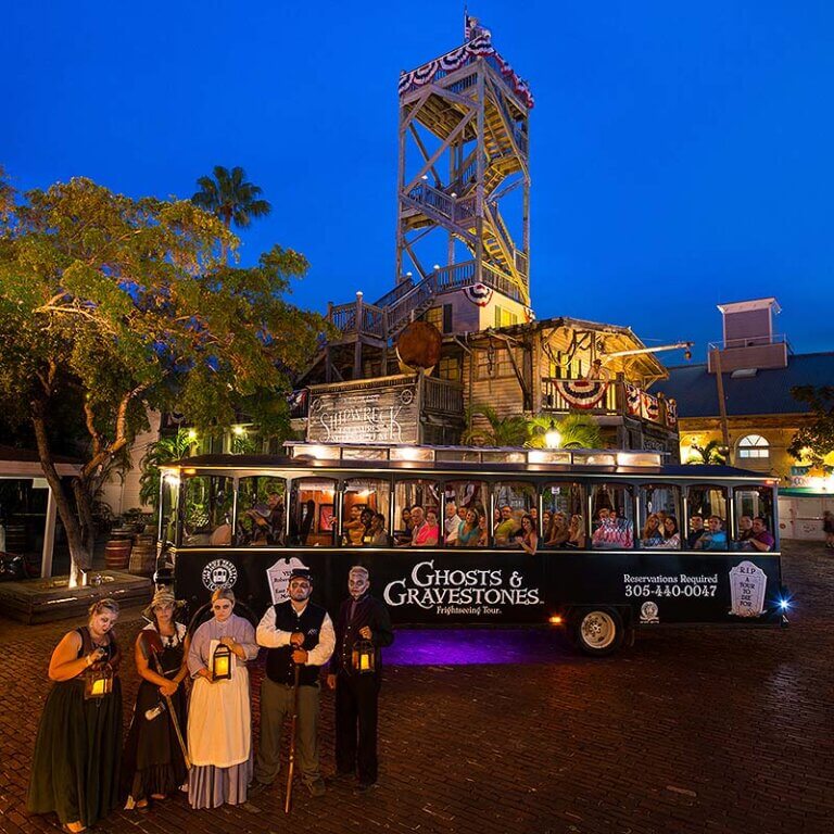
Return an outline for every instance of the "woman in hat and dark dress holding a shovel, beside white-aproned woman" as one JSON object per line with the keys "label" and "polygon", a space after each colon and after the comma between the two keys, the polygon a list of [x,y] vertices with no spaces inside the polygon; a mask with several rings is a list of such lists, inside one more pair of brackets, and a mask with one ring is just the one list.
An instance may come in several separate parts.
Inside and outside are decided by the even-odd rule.
{"label": "woman in hat and dark dress holding a shovel, beside white-aproned woman", "polygon": [[151,620],[136,640],[136,668],[141,677],[134,717],[125,742],[123,769],[129,794],[127,808],[147,810],[188,779],[185,757],[165,697],[170,698],[177,725],[186,732],[186,627],[175,619],[177,602],[160,589],[144,609]]}

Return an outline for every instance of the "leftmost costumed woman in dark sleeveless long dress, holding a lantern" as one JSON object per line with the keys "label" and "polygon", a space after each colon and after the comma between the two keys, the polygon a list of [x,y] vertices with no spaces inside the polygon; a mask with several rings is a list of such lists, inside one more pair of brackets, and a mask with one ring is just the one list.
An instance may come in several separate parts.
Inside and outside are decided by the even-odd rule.
{"label": "leftmost costumed woman in dark sleeveless long dress, holding a lantern", "polygon": [[[73,834],[118,804],[122,684],[113,633],[118,604],[99,599],[88,614],[87,624],[64,634],[49,662],[54,685],[40,717],[27,803],[31,813],[54,811],[63,831]],[[110,692],[102,680],[92,685],[105,672],[113,673]]]}

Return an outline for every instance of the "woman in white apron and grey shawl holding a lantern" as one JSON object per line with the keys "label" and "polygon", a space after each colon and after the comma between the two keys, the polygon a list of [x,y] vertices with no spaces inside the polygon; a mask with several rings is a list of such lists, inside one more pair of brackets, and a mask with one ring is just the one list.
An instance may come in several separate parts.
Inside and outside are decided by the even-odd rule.
{"label": "woman in white apron and grey shawl holding a lantern", "polygon": [[[191,639],[188,669],[194,680],[188,715],[188,749],[192,768],[188,799],[192,808],[217,808],[247,801],[252,780],[252,712],[247,660],[257,656],[255,630],[232,612],[235,594],[218,587],[212,594],[214,617]],[[212,660],[217,646],[232,653],[232,674],[215,680]]]}

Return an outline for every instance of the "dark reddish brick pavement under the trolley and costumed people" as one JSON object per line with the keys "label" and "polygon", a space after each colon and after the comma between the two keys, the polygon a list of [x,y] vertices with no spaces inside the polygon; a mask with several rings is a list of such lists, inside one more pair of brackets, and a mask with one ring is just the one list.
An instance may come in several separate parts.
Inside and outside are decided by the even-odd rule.
{"label": "dark reddish brick pavement under the trolley and costumed people", "polygon": [[[834,833],[834,556],[788,545],[792,627],[642,633],[605,660],[573,655],[547,631],[470,631],[493,662],[389,666],[381,781],[333,783],[291,817],[278,793],[191,811],[182,797],[149,814],[117,812],[111,832],[269,834]],[[0,619],[0,830],[54,831],[25,811],[46,668],[70,623]],[[138,611],[119,623],[136,633]],[[405,640],[403,641],[406,642]],[[10,653],[10,654],[7,654]],[[136,674],[124,670],[125,702]],[[257,674],[257,671],[256,673]],[[323,753],[333,770],[332,698]]]}

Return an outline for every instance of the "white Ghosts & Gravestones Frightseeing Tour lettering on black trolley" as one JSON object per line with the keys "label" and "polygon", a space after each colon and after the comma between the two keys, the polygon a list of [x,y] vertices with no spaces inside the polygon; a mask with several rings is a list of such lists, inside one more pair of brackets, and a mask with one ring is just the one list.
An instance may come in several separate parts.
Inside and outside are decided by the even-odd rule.
{"label": "white Ghosts & Gravestones Frightseeing Tour lettering on black trolley", "polygon": [[391,606],[417,605],[447,616],[501,615],[503,606],[544,602],[540,589],[527,587],[518,570],[435,568],[433,559],[417,563],[408,578],[389,582],[383,597]]}

